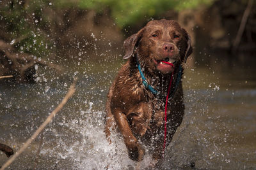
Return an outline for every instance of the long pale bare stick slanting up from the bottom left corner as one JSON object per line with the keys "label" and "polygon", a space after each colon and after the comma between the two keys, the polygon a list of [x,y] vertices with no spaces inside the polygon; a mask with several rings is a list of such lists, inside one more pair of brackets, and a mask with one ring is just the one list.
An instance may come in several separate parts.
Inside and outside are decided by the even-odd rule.
{"label": "long pale bare stick slanting up from the bottom left corner", "polygon": [[74,82],[72,83],[72,85],[70,85],[70,88],[66,94],[66,96],[64,97],[64,99],[61,101],[61,103],[57,106],[57,108],[52,111],[51,115],[49,115],[49,117],[47,117],[47,119],[44,121],[43,124],[40,125],[40,127],[38,127],[38,129],[34,132],[34,134],[26,141],[26,143],[20,148],[20,150],[18,152],[16,152],[13,157],[11,157],[9,160],[7,160],[5,162],[5,164],[1,167],[0,170],[5,169],[6,167],[10,166],[10,164],[12,164],[13,160],[15,160],[20,153],[24,152],[24,150],[26,148],[28,148],[29,144],[36,138],[36,136],[38,136],[38,134],[40,134],[40,132],[42,132],[44,130],[44,128],[46,127],[46,125],[48,125],[52,119],[55,117],[56,113],[58,113],[58,111],[61,110],[61,108],[63,108],[63,106],[67,103],[68,99],[74,94],[74,92],[76,91],[75,86],[76,86],[76,81],[77,79],[75,78]]}

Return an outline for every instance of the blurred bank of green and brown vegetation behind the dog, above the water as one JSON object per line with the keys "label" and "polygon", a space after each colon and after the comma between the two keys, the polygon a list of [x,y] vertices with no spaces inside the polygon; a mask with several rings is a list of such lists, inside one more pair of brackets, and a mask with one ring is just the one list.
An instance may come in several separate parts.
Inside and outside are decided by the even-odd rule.
{"label": "blurred bank of green and brown vegetation behind the dog, above the water", "polygon": [[[251,3],[250,3],[251,2]],[[4,45],[55,62],[111,58],[122,41],[149,20],[173,19],[193,39],[190,63],[213,62],[203,53],[225,52],[243,62],[255,54],[256,11],[253,0],[6,0],[0,1],[0,60]],[[247,9],[247,10],[246,10]],[[244,29],[241,27],[244,13]],[[237,39],[237,40],[236,40]],[[238,45],[234,46],[234,41]],[[96,54],[93,55],[91,54]],[[204,63],[203,62],[203,63]],[[3,67],[3,66],[2,66]],[[6,67],[6,66],[5,66]],[[6,74],[1,73],[1,74]],[[0,75],[1,76],[1,75]]]}

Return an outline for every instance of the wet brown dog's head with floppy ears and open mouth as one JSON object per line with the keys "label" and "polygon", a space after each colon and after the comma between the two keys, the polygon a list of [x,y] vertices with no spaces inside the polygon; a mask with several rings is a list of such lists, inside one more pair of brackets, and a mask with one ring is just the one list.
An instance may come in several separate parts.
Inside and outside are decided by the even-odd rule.
{"label": "wet brown dog's head with floppy ears and open mouth", "polygon": [[191,39],[185,29],[174,20],[152,20],[136,34],[124,41],[125,55],[128,59],[138,53],[139,60],[161,73],[172,73],[174,66],[186,62],[192,53]]}

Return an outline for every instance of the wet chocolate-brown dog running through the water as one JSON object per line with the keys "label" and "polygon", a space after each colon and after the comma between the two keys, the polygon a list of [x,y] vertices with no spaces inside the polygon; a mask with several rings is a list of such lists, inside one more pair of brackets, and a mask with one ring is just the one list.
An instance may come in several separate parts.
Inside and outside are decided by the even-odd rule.
{"label": "wet chocolate-brown dog running through the water", "polygon": [[[152,20],[127,38],[124,48],[124,59],[129,60],[120,69],[109,90],[106,136],[109,138],[110,128],[117,124],[132,160],[143,159],[144,149],[141,143],[149,146],[153,157],[159,159],[164,143],[165,97],[172,73],[166,145],[172,140],[184,115],[182,82],[179,81],[183,68],[180,64],[186,62],[192,53],[191,40],[188,33],[174,20]],[[174,66],[164,64],[164,61],[171,62]],[[144,85],[139,64],[147,80]],[[150,87],[157,93],[154,94]]]}

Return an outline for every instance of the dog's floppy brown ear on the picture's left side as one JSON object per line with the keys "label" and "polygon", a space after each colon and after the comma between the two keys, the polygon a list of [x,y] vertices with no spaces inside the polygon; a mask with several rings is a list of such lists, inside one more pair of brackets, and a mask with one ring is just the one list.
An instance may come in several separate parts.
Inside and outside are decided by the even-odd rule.
{"label": "dog's floppy brown ear on the picture's left side", "polygon": [[125,55],[124,55],[123,59],[129,59],[129,57],[132,56],[136,44],[138,43],[138,41],[140,41],[140,39],[142,37],[142,32],[143,32],[143,29],[141,29],[136,34],[129,36],[127,39],[125,39],[125,41],[124,41]]}

